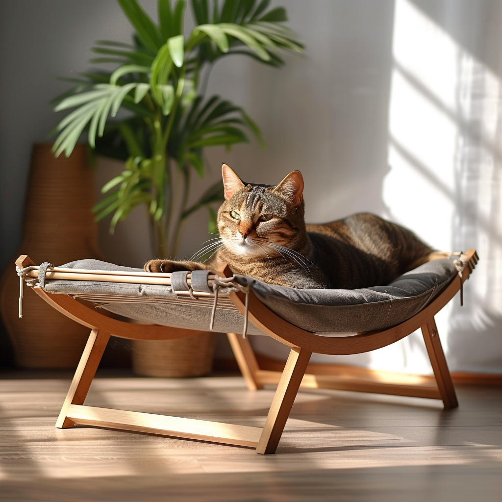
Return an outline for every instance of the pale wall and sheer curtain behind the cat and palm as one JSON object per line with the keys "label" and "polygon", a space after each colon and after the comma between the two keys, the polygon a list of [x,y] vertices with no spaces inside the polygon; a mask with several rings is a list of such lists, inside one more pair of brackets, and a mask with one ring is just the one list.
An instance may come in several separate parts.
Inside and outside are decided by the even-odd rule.
{"label": "pale wall and sheer curtain behind the cat and palm", "polygon": [[[208,151],[216,179],[221,161],[242,178],[275,183],[300,169],[308,221],[373,211],[413,228],[440,248],[478,247],[481,262],[465,291],[466,307],[440,320],[453,369],[502,371],[500,341],[499,70],[500,2],[488,0],[284,0],[290,25],[306,44],[274,70],[229,57],[217,63],[208,92],[241,104],[268,145]],[[155,2],[143,5],[154,15]],[[56,122],[48,100],[65,84],[51,76],[86,68],[96,39],[128,41],[114,2],[5,2],[0,12],[0,162],[2,263],[20,240],[29,149]],[[488,148],[486,148],[488,145]],[[101,162],[98,185],[119,165]],[[181,255],[207,236],[205,214]],[[138,209],[114,237],[101,228],[108,259],[141,266],[149,258]],[[255,342],[278,354],[273,340]],[[318,356],[318,360],[326,360]],[[344,362],[427,371],[414,335]]]}

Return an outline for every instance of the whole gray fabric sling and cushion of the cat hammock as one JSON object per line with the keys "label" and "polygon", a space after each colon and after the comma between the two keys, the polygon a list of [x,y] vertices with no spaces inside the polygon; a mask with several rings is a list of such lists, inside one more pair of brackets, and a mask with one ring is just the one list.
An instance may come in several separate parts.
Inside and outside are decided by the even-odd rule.
{"label": "whole gray fabric sling and cushion of the cat hammock", "polygon": [[[141,271],[97,260],[79,260],[63,267]],[[256,296],[283,319],[307,331],[329,335],[384,329],[399,324],[435,298],[456,274],[452,261],[436,260],[407,272],[388,286],[365,289],[295,289],[266,284],[246,276],[237,276],[237,280],[242,285],[249,285]],[[212,300],[176,299],[170,286],[48,280],[46,289],[80,296],[104,295],[103,308],[144,323],[209,329]],[[108,301],[109,295],[127,297],[127,301],[111,298]],[[145,302],[146,299],[149,302]],[[241,329],[241,314],[228,299],[221,298],[214,331],[238,333]],[[263,333],[250,323],[248,334]]]}

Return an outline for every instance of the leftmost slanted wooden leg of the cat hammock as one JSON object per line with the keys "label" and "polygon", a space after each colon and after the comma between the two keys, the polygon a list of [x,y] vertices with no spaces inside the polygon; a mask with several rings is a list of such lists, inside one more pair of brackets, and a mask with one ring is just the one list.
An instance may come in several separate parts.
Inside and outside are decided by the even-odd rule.
{"label": "leftmost slanted wooden leg of the cat hammock", "polygon": [[97,329],[91,331],[77,370],[73,376],[70,390],[66,395],[63,407],[56,421],[56,427],[59,429],[66,429],[75,424],[74,421],[66,418],[66,414],[70,405],[82,405],[84,403],[109,338],[110,334],[104,331]]}

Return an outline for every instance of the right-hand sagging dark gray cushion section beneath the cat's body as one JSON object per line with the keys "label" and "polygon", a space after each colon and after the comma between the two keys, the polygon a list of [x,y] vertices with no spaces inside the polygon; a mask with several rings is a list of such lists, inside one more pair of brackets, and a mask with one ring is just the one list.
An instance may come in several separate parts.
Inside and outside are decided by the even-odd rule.
{"label": "right-hand sagging dark gray cushion section beneath the cat's body", "polygon": [[407,272],[388,286],[341,290],[272,286],[239,277],[276,314],[307,331],[359,333],[399,324],[420,312],[458,274],[450,260]]}

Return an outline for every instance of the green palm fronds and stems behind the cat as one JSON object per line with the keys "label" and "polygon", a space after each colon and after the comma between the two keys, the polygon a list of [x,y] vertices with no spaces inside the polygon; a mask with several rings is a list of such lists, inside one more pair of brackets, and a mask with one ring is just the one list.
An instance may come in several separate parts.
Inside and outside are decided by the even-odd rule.
{"label": "green palm fronds and stems behind the cat", "polygon": [[[117,0],[135,34],[131,44],[96,42],[92,63],[113,63],[69,79],[74,86],[54,101],[67,114],[56,127],[54,154],[69,156],[82,133],[97,154],[124,162],[124,170],[101,189],[96,219],[111,214],[110,232],[138,205],[149,215],[152,254],[175,257],[186,219],[206,208],[209,231],[216,231],[214,206],[223,199],[220,182],[189,204],[193,175],[203,177],[203,149],[261,142],[260,130],[240,107],[220,96],[206,97],[214,63],[230,54],[252,57],[273,67],[281,52],[301,52],[302,44],[285,26],[286,11],[270,0],[192,0],[195,28],[184,33],[185,0],[158,0],[155,23],[137,0]],[[70,111],[71,110],[71,111]],[[117,112],[123,110],[120,118]],[[69,111],[69,112],[68,112]],[[182,195],[175,197],[178,170]],[[177,207],[176,207],[177,205]],[[174,340],[173,340],[174,341]],[[171,341],[169,341],[171,342]],[[166,343],[166,342],[164,342]]]}

